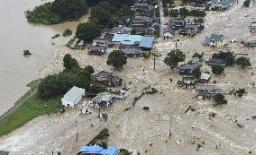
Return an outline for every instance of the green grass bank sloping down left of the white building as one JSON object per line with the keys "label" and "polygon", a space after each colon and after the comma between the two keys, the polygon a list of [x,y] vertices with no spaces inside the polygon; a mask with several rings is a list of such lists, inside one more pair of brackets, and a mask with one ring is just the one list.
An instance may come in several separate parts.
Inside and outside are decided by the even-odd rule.
{"label": "green grass bank sloping down left of the white building", "polygon": [[53,113],[59,102],[60,97],[43,100],[34,94],[14,113],[0,121],[0,136],[11,133],[37,116]]}

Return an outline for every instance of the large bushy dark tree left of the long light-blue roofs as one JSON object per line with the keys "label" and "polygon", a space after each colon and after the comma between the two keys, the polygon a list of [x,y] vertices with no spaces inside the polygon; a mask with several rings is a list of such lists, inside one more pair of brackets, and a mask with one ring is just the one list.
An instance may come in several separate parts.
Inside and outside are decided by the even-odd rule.
{"label": "large bushy dark tree left of the long light-blue roofs", "polygon": [[87,43],[92,42],[93,39],[96,39],[100,34],[101,30],[95,22],[79,23],[76,31],[77,38]]}

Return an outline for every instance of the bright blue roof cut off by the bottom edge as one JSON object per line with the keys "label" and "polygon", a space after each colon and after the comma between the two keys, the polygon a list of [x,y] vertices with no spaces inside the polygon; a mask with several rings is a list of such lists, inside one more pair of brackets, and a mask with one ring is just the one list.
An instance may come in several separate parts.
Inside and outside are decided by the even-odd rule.
{"label": "bright blue roof cut off by the bottom edge", "polygon": [[84,145],[80,148],[78,155],[117,155],[119,152],[116,146],[108,146],[104,149],[98,145]]}

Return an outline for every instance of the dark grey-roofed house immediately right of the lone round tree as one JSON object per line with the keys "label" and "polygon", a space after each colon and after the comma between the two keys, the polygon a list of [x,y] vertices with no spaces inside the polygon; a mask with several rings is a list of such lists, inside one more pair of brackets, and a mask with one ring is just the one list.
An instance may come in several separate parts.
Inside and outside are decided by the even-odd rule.
{"label": "dark grey-roofed house immediately right of the lone round tree", "polygon": [[197,68],[200,68],[202,66],[201,63],[187,63],[183,65],[178,66],[178,73],[180,75],[192,75],[193,71]]}

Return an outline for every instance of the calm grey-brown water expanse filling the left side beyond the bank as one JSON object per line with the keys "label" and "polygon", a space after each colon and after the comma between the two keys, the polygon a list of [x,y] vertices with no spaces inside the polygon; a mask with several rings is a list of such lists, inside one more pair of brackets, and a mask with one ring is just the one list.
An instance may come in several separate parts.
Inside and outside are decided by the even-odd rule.
{"label": "calm grey-brown water expanse filling the left side beyond the bank", "polygon": [[[49,1],[49,0],[48,0]],[[66,39],[50,39],[64,30],[76,30],[78,22],[65,22],[53,26],[43,26],[27,22],[24,12],[36,5],[46,3],[41,0],[0,1],[0,115],[14,106],[29,88],[26,84],[38,77],[42,65],[50,63],[55,48],[63,46]],[[80,21],[86,21],[84,16]],[[52,46],[52,42],[56,43]],[[32,56],[24,57],[23,50],[30,50]]]}

